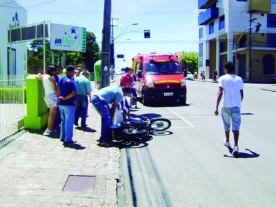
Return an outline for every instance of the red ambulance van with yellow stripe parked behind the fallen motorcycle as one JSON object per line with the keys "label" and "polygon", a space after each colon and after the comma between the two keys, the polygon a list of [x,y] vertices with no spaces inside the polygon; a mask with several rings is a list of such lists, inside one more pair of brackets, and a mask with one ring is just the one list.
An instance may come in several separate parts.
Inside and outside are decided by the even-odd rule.
{"label": "red ambulance van with yellow stripe parked behind the fallen motorcycle", "polygon": [[176,55],[150,53],[132,58],[137,96],[152,101],[186,103],[186,81]]}

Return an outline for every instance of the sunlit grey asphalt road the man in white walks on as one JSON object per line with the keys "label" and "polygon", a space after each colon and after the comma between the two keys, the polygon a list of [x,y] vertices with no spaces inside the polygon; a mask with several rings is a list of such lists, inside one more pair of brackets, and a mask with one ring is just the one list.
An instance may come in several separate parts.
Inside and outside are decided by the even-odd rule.
{"label": "sunlit grey asphalt road the man in white walks on", "polygon": [[172,127],[121,150],[119,206],[276,206],[276,92],[245,84],[234,158],[213,113],[217,83],[187,85],[187,106],[139,104],[135,113],[161,115]]}

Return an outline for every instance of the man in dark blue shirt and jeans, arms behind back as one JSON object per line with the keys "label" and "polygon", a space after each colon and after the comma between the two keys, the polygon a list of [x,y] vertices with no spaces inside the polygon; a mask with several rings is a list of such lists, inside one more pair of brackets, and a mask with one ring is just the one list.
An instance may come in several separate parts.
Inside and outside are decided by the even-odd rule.
{"label": "man in dark blue shirt and jeans, arms behind back", "polygon": [[75,120],[75,95],[77,87],[74,79],[75,68],[68,66],[66,76],[59,80],[59,110],[61,112],[60,139],[66,143],[72,143],[73,126]]}

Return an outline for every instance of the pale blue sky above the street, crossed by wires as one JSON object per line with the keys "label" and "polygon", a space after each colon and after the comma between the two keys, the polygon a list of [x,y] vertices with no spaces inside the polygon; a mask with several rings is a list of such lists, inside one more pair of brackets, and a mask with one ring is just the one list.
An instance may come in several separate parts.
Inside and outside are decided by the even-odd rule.
{"label": "pale blue sky above the street, crossed by wires", "polygon": [[[28,24],[51,21],[85,27],[101,47],[104,0],[16,1],[28,10]],[[114,21],[115,57],[125,56],[115,59],[115,68],[131,66],[139,53],[198,51],[197,17],[195,0],[112,0],[112,18],[119,19]],[[150,39],[144,39],[144,30],[150,30]]]}

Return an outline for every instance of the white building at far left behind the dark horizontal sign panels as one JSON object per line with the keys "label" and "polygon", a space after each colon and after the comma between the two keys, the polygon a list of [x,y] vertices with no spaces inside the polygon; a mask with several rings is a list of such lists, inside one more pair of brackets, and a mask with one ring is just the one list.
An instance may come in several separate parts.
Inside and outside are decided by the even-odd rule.
{"label": "white building at far left behind the dark horizontal sign panels", "polygon": [[[26,43],[8,44],[8,28],[26,24],[26,9],[16,1],[0,2],[0,76],[27,74]],[[11,52],[10,48],[12,48]],[[10,53],[12,58],[9,60]]]}

